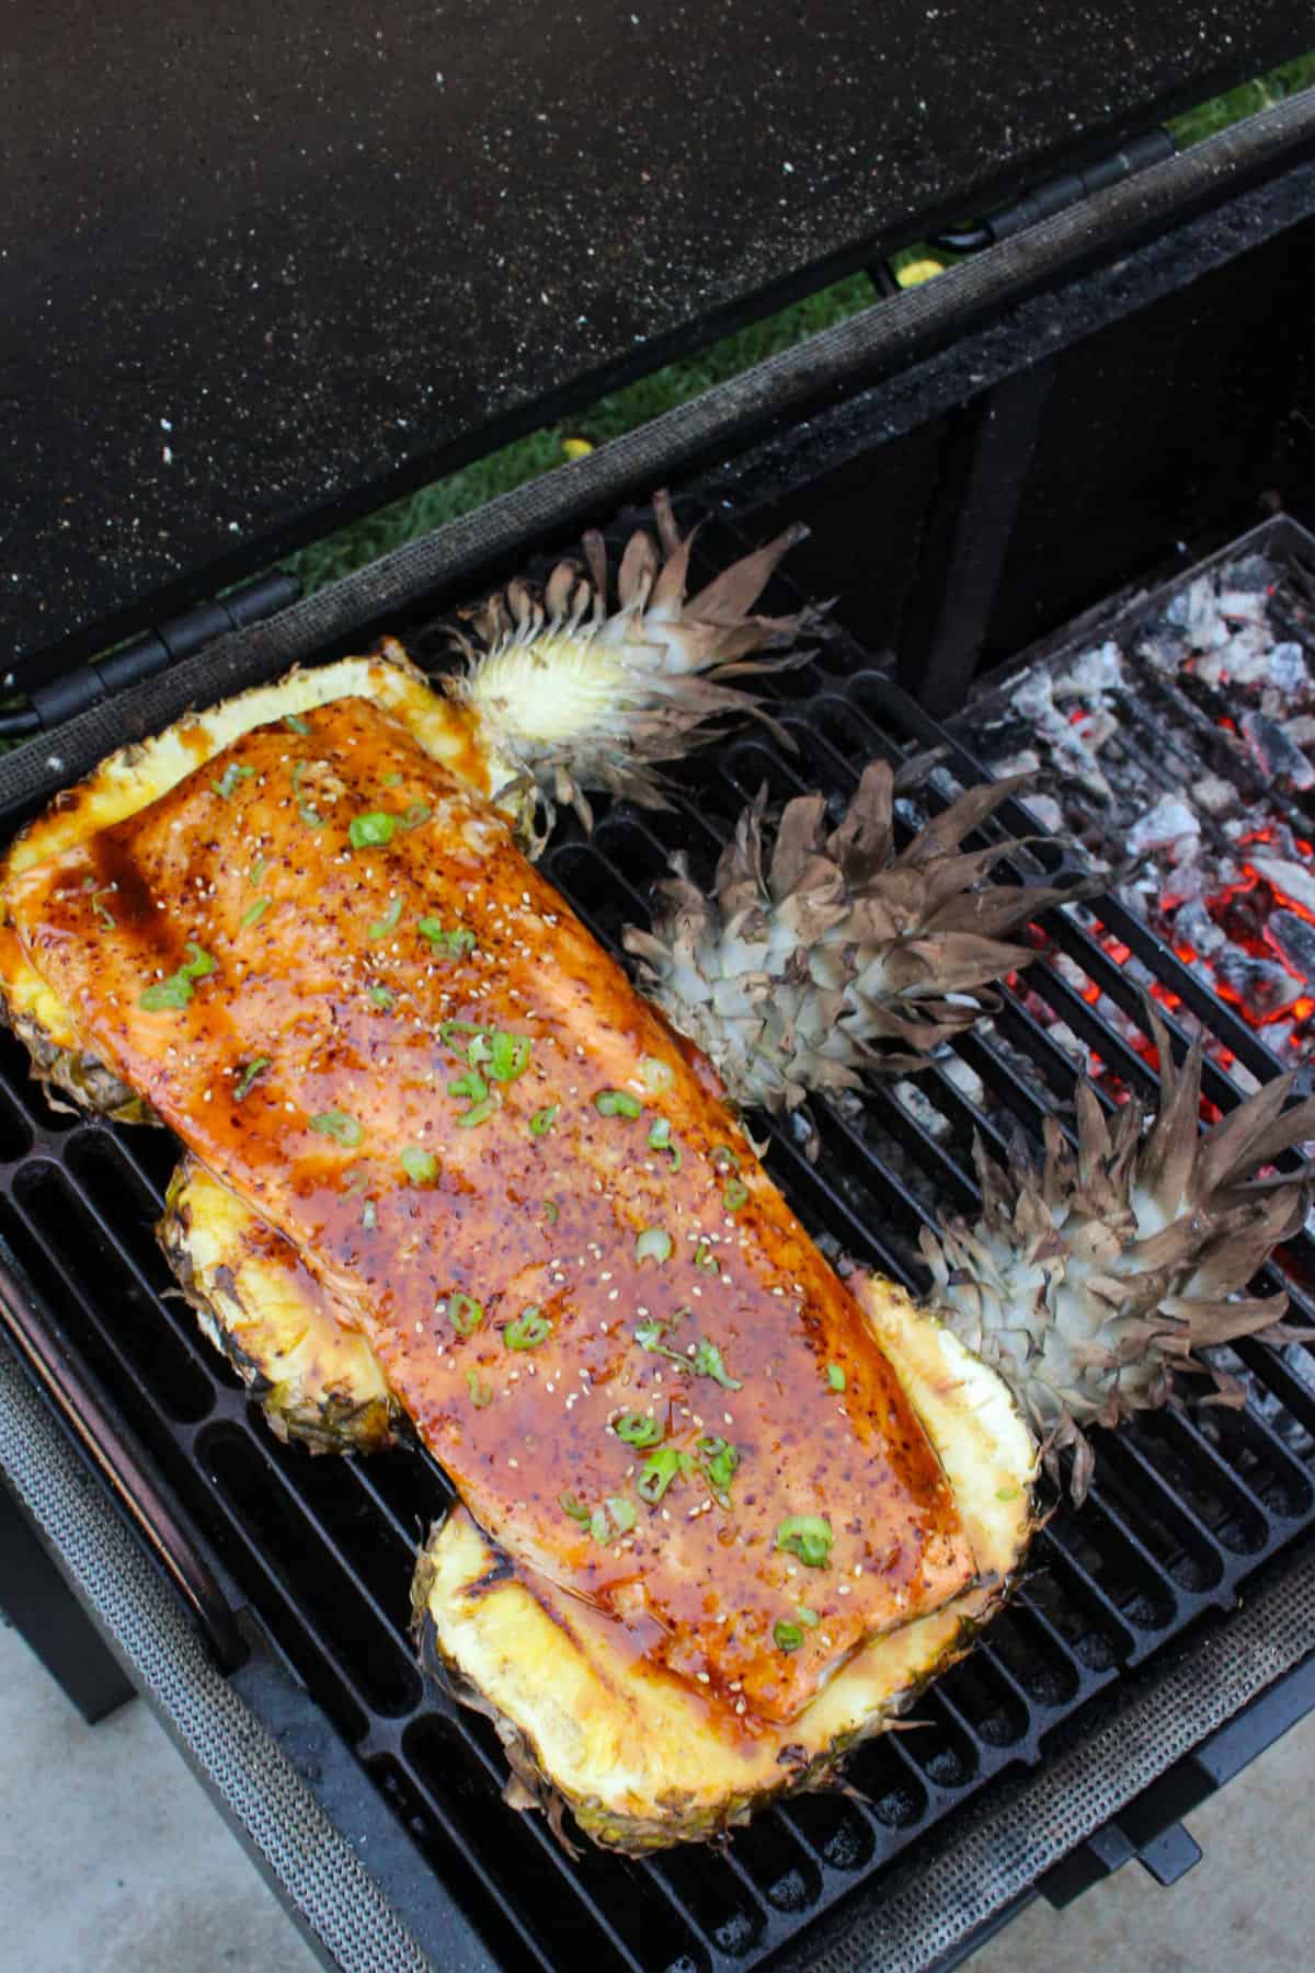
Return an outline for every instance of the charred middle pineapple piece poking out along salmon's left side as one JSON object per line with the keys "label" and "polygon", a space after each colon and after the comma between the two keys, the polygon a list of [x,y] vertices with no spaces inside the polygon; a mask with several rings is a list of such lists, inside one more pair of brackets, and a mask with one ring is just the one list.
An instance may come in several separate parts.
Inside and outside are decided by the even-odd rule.
{"label": "charred middle pineapple piece poking out along salmon's left side", "polygon": [[251,1206],[190,1158],[174,1174],[156,1235],[201,1332],[278,1438],[312,1452],[383,1452],[405,1436],[365,1338],[334,1318]]}

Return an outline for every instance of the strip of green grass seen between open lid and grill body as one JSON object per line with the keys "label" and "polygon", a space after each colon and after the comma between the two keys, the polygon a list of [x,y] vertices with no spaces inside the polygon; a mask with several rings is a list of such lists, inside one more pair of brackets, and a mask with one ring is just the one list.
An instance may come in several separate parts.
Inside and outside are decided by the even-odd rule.
{"label": "strip of green grass seen between open lid and grill body", "polygon": [[[1274,69],[1254,83],[1242,83],[1238,89],[1202,103],[1200,109],[1175,116],[1169,130],[1179,150],[1185,150],[1189,144],[1199,144],[1216,130],[1240,122],[1244,116],[1254,116],[1283,97],[1309,87],[1315,87],[1315,55],[1287,61],[1281,69]],[[924,276],[926,260],[928,249],[918,247],[892,256],[894,270],[902,280]],[[790,349],[794,343],[829,329],[835,322],[845,322],[861,308],[869,308],[873,300],[875,290],[865,274],[835,282],[835,286],[823,288],[736,335],[727,335],[695,357],[667,363],[624,391],[598,399],[565,426],[519,438],[500,452],[490,452],[478,464],[434,479],[417,493],[377,509],[363,521],[302,548],[300,554],[284,562],[284,568],[300,578],[308,594],[324,588],[324,584],[336,582],[353,568],[363,568],[391,548],[442,527],[444,521],[472,513],[498,493],[507,493],[511,487],[561,466],[567,458],[563,450],[567,438],[584,438],[600,446],[608,438],[620,438],[622,432],[634,432],[663,410],[671,410],[673,404],[685,404],[691,397],[699,397],[711,385],[738,377],[754,363],[762,363],[764,357]]]}

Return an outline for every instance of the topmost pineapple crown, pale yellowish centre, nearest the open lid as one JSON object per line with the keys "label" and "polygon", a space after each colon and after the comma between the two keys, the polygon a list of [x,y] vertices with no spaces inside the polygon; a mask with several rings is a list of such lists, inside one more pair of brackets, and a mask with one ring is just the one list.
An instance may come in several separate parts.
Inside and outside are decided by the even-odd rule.
{"label": "topmost pineapple crown, pale yellowish centre, nearest the open lid", "polygon": [[[446,691],[474,712],[503,777],[494,799],[517,807],[531,854],[559,805],[592,829],[590,793],[665,807],[659,766],[729,718],[756,716],[780,732],[742,681],[804,663],[808,653],[788,647],[825,627],[825,610],[754,614],[806,527],[786,529],[689,598],[697,529],[681,537],[665,493],[654,495],[654,519],[658,541],[638,529],[626,543],[616,610],[604,541],[588,533],[584,566],[559,562],[543,590],[517,578],[464,612],[468,629],[454,631],[466,665]],[[768,651],[784,655],[760,655]]]}

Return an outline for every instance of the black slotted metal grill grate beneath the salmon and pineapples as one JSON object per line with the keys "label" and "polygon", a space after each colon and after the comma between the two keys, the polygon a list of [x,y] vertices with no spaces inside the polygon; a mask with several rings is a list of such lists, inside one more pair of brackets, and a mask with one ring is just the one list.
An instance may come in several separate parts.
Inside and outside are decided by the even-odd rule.
{"label": "black slotted metal grill grate beneath the salmon and pineapples", "polygon": [[[701,548],[725,560],[709,525]],[[731,550],[738,543],[729,545]],[[786,752],[758,734],[681,771],[667,815],[616,809],[592,840],[567,833],[549,878],[604,943],[646,915],[646,890],[675,846],[711,862],[742,799],[821,785],[847,795],[855,764],[902,760],[946,736],[843,639],[782,681]],[[944,777],[975,779],[952,748]],[[936,785],[936,783],[932,783]],[[940,789],[940,799],[948,783]],[[1031,833],[1007,807],[1001,825]],[[1056,844],[1019,850],[1054,872]],[[1171,953],[1102,904],[1175,992],[1258,1073],[1264,1046]],[[1135,990],[1104,947],[1050,913],[1054,947],[1135,1020]],[[1181,977],[1179,977],[1181,975]],[[1048,955],[1029,988],[1137,1087],[1147,1061],[1094,1014]],[[1191,998],[1195,994],[1195,998]],[[1033,1006],[1037,1002],[1033,1000]],[[857,1123],[819,1117],[808,1164],[776,1131],[772,1168],[821,1237],[914,1290],[924,1284],[918,1227],[973,1200],[969,1142],[1003,1148],[1064,1119],[1074,1065],[1011,994],[999,1018],[958,1046],[954,1065],[883,1089]],[[1220,1105],[1222,1075],[1206,1077]],[[918,1705],[918,1730],[859,1750],[857,1793],[800,1797],[760,1817],[725,1851],[675,1851],[634,1863],[569,1861],[539,1817],[500,1799],[505,1764],[490,1724],[452,1713],[423,1683],[407,1644],[411,1555],[450,1490],[423,1456],[312,1460],[280,1446],[235,1373],[201,1342],[152,1239],[174,1160],[164,1133],[124,1131],[51,1111],[24,1052],[0,1038],[0,1233],[41,1292],[61,1340],[107,1383],[160,1462],[269,1636],[353,1748],[421,1853],[515,1965],[590,1963],[630,1973],[723,1973],[774,1953],[825,1908],[991,1780],[1044,1758],[1048,1736],[1125,1671],[1181,1640],[1206,1612],[1236,1604],[1246,1580],[1315,1527],[1315,1377],[1305,1350],[1244,1344],[1246,1413],[1177,1413],[1102,1434],[1098,1476],[1080,1515],[1060,1509],[1041,1533],[1029,1578],[973,1657]],[[1285,1255],[1297,1314],[1309,1241]],[[1080,1718],[1078,1718],[1080,1728]]]}

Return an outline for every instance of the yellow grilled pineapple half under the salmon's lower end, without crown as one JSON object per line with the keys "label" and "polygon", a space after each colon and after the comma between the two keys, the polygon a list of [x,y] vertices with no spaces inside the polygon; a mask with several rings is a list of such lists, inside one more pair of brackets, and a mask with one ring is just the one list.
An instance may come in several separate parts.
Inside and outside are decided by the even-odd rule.
{"label": "yellow grilled pineapple half under the salmon's lower end, without crown", "polygon": [[1037,1440],[1007,1385],[936,1316],[879,1277],[851,1280],[869,1328],[926,1426],[977,1557],[977,1584],[875,1640],[786,1726],[740,1736],[679,1679],[636,1663],[616,1626],[515,1567],[462,1507],[417,1565],[421,1663],[484,1713],[511,1766],[507,1801],[563,1833],[640,1855],[707,1841],[766,1801],[825,1788],[964,1657],[1009,1596],[1039,1517]]}

